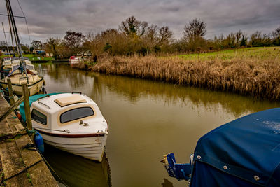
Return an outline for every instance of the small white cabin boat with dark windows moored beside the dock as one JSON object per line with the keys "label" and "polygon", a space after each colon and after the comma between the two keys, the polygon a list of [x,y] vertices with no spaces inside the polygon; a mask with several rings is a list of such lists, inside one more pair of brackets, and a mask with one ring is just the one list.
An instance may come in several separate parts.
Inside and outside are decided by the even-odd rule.
{"label": "small white cabin boat with dark windows moored beside the dock", "polygon": [[31,121],[46,144],[102,162],[108,124],[90,97],[77,92],[45,95],[32,102]]}

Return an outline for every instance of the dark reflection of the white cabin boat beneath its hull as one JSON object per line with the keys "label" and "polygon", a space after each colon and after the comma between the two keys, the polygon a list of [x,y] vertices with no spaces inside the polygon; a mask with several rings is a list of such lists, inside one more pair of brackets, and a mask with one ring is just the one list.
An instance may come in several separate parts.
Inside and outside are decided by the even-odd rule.
{"label": "dark reflection of the white cabin boat beneath its hull", "polygon": [[45,158],[68,186],[112,186],[109,161],[102,163],[45,146]]}

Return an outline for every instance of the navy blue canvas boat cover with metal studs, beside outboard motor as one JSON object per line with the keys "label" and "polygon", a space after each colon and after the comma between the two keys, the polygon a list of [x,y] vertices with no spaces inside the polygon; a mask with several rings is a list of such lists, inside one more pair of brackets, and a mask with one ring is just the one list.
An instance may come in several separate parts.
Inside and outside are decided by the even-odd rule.
{"label": "navy blue canvas boat cover with metal studs, beside outboard motor", "polygon": [[205,134],[191,187],[280,186],[280,109],[244,116]]}

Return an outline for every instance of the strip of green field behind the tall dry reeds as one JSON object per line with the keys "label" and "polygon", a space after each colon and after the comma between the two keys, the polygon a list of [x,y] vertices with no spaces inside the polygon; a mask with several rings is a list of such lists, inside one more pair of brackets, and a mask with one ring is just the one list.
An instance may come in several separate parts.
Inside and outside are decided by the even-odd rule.
{"label": "strip of green field behind the tall dry reeds", "polygon": [[222,50],[211,53],[195,53],[188,55],[177,55],[172,57],[181,57],[186,60],[211,60],[223,59],[230,60],[233,58],[246,59],[268,59],[271,57],[278,57],[280,54],[280,47],[259,47],[259,48],[241,48],[234,50]]}

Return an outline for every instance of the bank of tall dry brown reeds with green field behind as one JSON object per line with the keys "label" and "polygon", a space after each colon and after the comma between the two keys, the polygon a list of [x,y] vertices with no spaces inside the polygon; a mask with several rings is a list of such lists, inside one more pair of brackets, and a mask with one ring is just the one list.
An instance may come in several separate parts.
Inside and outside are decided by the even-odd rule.
{"label": "bank of tall dry brown reeds with green field behind", "polygon": [[248,48],[173,57],[103,57],[78,67],[106,74],[280,99],[280,48]]}

